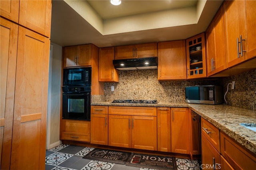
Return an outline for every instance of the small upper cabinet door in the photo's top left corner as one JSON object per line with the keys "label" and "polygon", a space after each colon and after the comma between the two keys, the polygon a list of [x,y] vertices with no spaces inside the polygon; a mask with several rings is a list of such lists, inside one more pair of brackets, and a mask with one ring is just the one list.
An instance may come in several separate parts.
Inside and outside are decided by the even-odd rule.
{"label": "small upper cabinet door in the photo's top left corner", "polygon": [[1,16],[12,20],[16,23],[19,21],[19,0],[1,0],[0,1],[0,13]]}

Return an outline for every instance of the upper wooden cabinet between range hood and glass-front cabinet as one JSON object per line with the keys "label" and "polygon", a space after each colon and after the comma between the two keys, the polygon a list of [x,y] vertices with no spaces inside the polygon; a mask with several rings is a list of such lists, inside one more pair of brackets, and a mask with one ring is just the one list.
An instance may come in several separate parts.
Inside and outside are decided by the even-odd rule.
{"label": "upper wooden cabinet between range hood and glass-front cabinet", "polygon": [[185,40],[158,43],[158,80],[186,79]]}

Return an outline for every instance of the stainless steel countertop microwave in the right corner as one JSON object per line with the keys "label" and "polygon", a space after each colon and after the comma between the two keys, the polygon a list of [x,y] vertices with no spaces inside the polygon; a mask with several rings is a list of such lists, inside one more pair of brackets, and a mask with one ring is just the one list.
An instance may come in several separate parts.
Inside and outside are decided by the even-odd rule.
{"label": "stainless steel countertop microwave in the right corner", "polygon": [[222,104],[223,91],[221,86],[199,85],[185,87],[186,103]]}

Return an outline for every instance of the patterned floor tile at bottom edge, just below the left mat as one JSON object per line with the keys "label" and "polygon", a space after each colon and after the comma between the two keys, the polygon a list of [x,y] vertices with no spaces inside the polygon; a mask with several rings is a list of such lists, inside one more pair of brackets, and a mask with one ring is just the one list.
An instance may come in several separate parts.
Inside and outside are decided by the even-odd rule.
{"label": "patterned floor tile at bottom edge, just below the left mat", "polygon": [[91,160],[82,170],[111,170],[114,165],[113,163]]}

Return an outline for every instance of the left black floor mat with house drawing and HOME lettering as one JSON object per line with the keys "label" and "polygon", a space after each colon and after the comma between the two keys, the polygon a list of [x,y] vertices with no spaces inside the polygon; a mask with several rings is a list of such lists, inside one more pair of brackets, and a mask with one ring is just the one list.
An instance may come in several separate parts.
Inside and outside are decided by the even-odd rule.
{"label": "left black floor mat with house drawing and HOME lettering", "polygon": [[86,156],[83,158],[124,165],[129,160],[131,154],[132,153],[120,152],[116,150],[94,149],[86,154]]}

